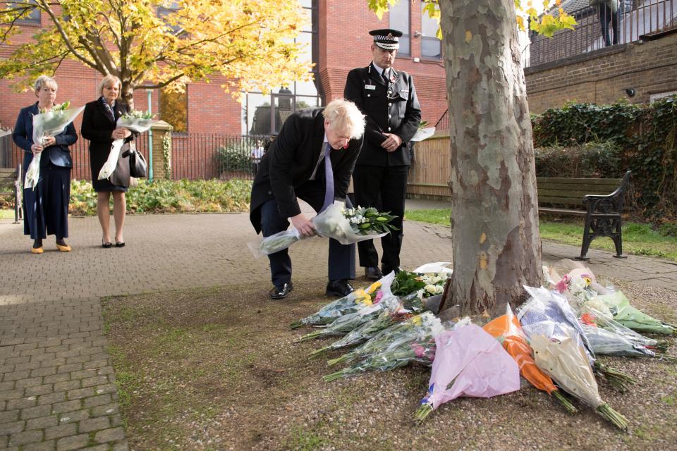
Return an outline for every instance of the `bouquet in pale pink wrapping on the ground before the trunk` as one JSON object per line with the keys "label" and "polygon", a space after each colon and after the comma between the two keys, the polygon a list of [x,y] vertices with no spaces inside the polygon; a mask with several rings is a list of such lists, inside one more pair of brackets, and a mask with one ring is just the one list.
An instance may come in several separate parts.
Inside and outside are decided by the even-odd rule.
{"label": "bouquet in pale pink wrapping on the ground before the trunk", "polygon": [[428,394],[415,414],[418,421],[459,396],[493,397],[520,389],[517,363],[480,326],[446,330],[435,337],[435,344]]}

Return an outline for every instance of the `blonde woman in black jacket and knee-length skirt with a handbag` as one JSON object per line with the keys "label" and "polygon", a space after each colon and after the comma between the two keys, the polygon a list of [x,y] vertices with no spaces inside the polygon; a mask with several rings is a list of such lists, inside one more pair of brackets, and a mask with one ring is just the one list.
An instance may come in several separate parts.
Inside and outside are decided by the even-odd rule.
{"label": "blonde woman in black jacket and knee-length skirt with a handbag", "polygon": [[[106,75],[99,85],[101,97],[85,105],[81,134],[90,140],[90,167],[92,168],[92,186],[97,192],[97,214],[102,229],[104,248],[112,247],[110,199],[113,193],[113,216],[115,218],[115,247],[123,247],[123,228],[127,204],[125,193],[129,187],[129,142],[134,139],[130,130],[116,128],[120,116],[129,112],[129,107],[118,99],[122,82],[114,75]],[[124,139],[115,171],[109,178],[98,180],[99,171],[106,163],[113,140]]]}

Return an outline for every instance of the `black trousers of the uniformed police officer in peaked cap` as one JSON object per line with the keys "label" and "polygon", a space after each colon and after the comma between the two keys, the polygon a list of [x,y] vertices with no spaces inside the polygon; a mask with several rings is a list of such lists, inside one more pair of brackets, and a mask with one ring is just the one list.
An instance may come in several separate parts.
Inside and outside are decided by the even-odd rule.
{"label": "black trousers of the uniformed police officer in peaked cap", "polygon": [[[397,216],[391,224],[398,228],[381,238],[383,256],[381,268],[384,273],[400,266],[400,249],[402,248],[402,218],[404,217],[404,199],[407,195],[407,174],[409,166],[355,166],[353,186],[355,187],[355,203],[359,206],[379,205],[382,211]],[[360,266],[378,266],[379,254],[374,247],[374,240],[358,242]]]}

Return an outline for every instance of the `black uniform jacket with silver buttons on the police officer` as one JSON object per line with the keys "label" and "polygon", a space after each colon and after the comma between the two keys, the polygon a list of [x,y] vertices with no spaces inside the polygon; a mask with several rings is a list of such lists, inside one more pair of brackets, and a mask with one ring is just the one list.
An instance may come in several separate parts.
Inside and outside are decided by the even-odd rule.
{"label": "black uniform jacket with silver buttons on the police officer", "polygon": [[[348,73],[343,97],[353,101],[367,115],[365,145],[358,164],[370,166],[409,166],[407,148],[409,140],[418,130],[421,107],[418,104],[414,80],[402,70],[390,68],[388,87],[372,64]],[[386,152],[381,143],[386,140],[382,132],[394,133],[402,138],[395,152]]]}

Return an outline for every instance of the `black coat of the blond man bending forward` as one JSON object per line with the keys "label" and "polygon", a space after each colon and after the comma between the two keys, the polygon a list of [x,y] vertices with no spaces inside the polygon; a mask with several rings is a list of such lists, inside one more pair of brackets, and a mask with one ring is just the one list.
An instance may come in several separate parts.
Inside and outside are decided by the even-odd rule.
{"label": "black coat of the blond man bending forward", "polygon": [[[250,207],[250,220],[257,233],[261,231],[259,207],[271,199],[276,199],[283,217],[300,214],[295,190],[310,179],[320,153],[324,152],[323,110],[308,109],[289,116],[261,159],[252,185]],[[350,140],[348,149],[331,151],[334,197],[337,199],[346,197],[360,149],[362,138]]]}

